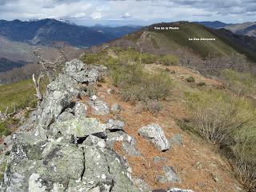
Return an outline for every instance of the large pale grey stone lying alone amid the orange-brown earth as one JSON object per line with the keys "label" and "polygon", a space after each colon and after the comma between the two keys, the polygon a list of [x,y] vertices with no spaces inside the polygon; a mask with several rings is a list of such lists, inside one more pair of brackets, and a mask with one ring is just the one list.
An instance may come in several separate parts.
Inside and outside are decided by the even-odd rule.
{"label": "large pale grey stone lying alone amid the orange-brown earth", "polygon": [[152,142],[159,150],[165,151],[170,148],[170,143],[168,142],[161,126],[158,126],[157,124],[143,126],[138,130],[138,134]]}

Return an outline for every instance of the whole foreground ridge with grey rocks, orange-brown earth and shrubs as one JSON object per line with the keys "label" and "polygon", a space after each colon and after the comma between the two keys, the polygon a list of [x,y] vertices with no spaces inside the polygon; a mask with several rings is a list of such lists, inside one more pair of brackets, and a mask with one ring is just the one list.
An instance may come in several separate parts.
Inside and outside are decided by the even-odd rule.
{"label": "whole foreground ridge with grey rocks, orange-brown earth and shrubs", "polygon": [[[250,118],[256,111],[250,98],[233,91],[240,77],[241,86],[254,91],[247,74],[226,73],[226,83],[170,66],[164,56],[120,47],[81,59],[87,65],[66,62],[40,107],[16,128],[14,140],[4,138],[2,147],[10,153],[0,158],[3,191],[254,191],[254,183],[249,185],[242,169],[235,172],[241,167],[234,163],[234,155],[251,162],[246,166],[254,177],[250,146],[256,133]],[[218,130],[224,140],[200,132],[197,121],[209,122],[218,135],[214,123],[223,121],[222,114],[229,128]],[[239,156],[244,147],[246,158]],[[16,178],[20,174],[25,177]]]}

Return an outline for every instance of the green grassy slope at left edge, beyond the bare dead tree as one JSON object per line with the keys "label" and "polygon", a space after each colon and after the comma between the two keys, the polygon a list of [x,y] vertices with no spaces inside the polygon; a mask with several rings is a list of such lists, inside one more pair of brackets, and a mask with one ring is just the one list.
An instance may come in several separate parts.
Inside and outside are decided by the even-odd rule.
{"label": "green grassy slope at left edge, beyond the bare dead tree", "polygon": [[0,86],[0,110],[6,110],[6,106],[23,105],[28,98],[34,95],[34,86],[31,79]]}

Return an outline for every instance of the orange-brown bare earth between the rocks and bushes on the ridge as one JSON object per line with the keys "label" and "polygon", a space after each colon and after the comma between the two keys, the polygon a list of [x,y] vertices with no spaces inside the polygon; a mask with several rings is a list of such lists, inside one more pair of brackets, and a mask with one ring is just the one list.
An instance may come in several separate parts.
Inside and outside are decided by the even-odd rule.
{"label": "orange-brown bare earth between the rocks and bushes on the ridge", "polygon": [[[156,64],[146,65],[146,70],[154,71],[154,69],[163,70],[166,66]],[[175,81],[185,85],[185,78],[193,76],[196,82],[206,82],[207,86],[222,87],[222,82],[218,80],[204,78],[202,75],[193,70],[186,69],[182,66],[168,66],[170,70],[175,70],[172,78]],[[114,150],[118,154],[125,156],[132,168],[134,178],[142,178],[148,183],[152,189],[166,189],[169,187],[178,187],[182,189],[190,189],[196,192],[206,191],[222,191],[234,192],[242,191],[242,186],[234,177],[231,166],[225,157],[218,150],[218,146],[214,146],[206,142],[202,138],[191,134],[189,131],[182,130],[178,126],[178,119],[186,119],[186,107],[182,99],[175,97],[170,101],[163,102],[162,110],[158,116],[154,116],[149,112],[136,113],[136,107],[133,103],[122,102],[118,96],[118,89],[114,87],[115,93],[108,94],[106,90],[113,88],[110,80],[105,83],[99,83],[97,86],[98,97],[102,98],[110,106],[118,103],[122,106],[122,110],[118,114],[109,114],[106,116],[97,116],[102,122],[106,122],[109,118],[118,118],[126,123],[125,131],[127,134],[134,136],[136,147],[142,154],[138,157],[128,156],[123,153],[120,142],[114,144]],[[175,88],[174,88],[175,89]],[[176,88],[177,89],[177,88]],[[177,89],[180,90],[180,89]],[[178,94],[176,94],[177,96]],[[82,98],[86,101],[87,98]],[[92,116],[89,114],[89,116]],[[166,137],[170,138],[174,134],[182,135],[183,146],[172,146],[166,152],[158,151],[150,142],[140,137],[137,133],[138,129],[150,123],[158,123],[162,126]],[[155,163],[154,157],[166,158],[165,161]],[[164,184],[157,181],[157,175],[163,175],[162,166],[173,166],[181,183],[166,182]],[[217,181],[218,180],[218,181]]]}

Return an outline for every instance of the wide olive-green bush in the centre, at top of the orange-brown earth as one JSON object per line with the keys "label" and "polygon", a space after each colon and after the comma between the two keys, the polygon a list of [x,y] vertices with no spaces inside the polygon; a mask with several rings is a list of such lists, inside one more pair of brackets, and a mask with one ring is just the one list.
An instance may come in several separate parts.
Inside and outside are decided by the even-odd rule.
{"label": "wide olive-green bush in the centre, at top of the orange-brown earth", "polygon": [[118,66],[111,74],[124,101],[161,100],[170,95],[171,79],[166,73],[147,74],[138,63]]}

